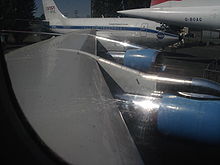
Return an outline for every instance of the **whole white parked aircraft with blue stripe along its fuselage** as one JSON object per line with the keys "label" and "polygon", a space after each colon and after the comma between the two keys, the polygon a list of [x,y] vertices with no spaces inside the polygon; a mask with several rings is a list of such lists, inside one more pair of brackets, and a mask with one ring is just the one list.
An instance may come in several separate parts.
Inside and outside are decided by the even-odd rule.
{"label": "whole white parked aircraft with blue stripe along its fuselage", "polygon": [[97,35],[120,41],[160,47],[179,40],[176,34],[157,30],[160,24],[134,18],[67,18],[53,0],[42,0],[46,20],[52,31],[68,33],[77,30],[96,29]]}

